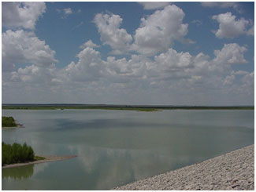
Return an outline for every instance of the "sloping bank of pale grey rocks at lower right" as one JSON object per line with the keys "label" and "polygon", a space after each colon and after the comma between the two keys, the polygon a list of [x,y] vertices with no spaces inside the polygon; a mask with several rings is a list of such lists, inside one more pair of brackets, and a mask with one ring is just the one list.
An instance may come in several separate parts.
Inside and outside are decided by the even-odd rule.
{"label": "sloping bank of pale grey rocks at lower right", "polygon": [[111,190],[254,190],[254,144]]}

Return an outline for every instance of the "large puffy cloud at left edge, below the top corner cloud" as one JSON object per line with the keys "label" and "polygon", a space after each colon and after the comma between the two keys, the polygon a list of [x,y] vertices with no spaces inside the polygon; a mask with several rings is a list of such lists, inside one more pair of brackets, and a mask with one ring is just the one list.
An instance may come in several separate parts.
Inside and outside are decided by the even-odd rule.
{"label": "large puffy cloud at left edge, below the top corner cloud", "polygon": [[2,34],[2,71],[13,71],[17,63],[52,67],[58,62],[54,55],[55,51],[33,32],[8,30]]}

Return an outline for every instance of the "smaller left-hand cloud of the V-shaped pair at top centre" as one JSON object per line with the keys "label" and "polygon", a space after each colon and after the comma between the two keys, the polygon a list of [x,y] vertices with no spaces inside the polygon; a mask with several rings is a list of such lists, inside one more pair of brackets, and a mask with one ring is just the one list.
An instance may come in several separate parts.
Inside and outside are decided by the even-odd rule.
{"label": "smaller left-hand cloud of the V-shaped pair at top centre", "polygon": [[132,36],[120,28],[122,20],[121,16],[112,13],[98,13],[94,19],[101,41],[104,45],[110,45],[113,53],[117,54],[127,52],[132,42]]}

